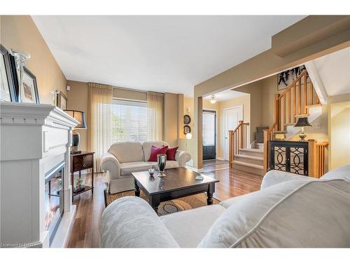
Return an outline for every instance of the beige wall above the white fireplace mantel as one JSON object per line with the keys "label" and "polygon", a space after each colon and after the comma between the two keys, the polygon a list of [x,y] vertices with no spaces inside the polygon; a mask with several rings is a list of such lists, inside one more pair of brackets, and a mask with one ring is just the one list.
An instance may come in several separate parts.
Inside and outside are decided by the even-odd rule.
{"label": "beige wall above the white fireplace mantel", "polygon": [[41,103],[52,103],[51,91],[66,94],[66,78],[29,15],[1,15],[1,44],[30,54],[26,67],[36,76]]}

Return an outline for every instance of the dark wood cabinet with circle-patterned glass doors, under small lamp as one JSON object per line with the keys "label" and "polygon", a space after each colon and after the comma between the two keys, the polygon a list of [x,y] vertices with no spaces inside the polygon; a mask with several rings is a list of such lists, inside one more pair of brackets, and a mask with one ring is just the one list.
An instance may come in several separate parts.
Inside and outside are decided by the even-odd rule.
{"label": "dark wood cabinet with circle-patterned glass doors, under small lamp", "polygon": [[283,140],[269,142],[269,170],[308,175],[308,143]]}

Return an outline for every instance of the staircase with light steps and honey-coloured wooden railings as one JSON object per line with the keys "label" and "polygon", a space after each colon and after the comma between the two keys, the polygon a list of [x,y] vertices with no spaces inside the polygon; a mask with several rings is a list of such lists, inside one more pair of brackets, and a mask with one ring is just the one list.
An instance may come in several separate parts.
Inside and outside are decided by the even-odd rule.
{"label": "staircase with light steps and honey-coloured wooden railings", "polygon": [[[253,144],[249,149],[246,147],[246,126],[249,123],[239,121],[237,128],[229,131],[230,168],[265,175],[269,163],[268,142],[273,140],[274,133],[283,131],[288,140],[300,131],[300,128],[293,127],[298,117],[308,116],[309,122],[312,122],[321,114],[320,101],[307,71],[304,70],[286,90],[283,90],[283,93],[275,95],[274,123],[269,129],[264,130],[264,143]],[[318,147],[318,144],[315,144],[315,147]],[[315,152],[318,153],[316,148]],[[320,156],[323,154],[324,159],[324,148],[320,154]],[[315,158],[322,159],[319,156]]]}

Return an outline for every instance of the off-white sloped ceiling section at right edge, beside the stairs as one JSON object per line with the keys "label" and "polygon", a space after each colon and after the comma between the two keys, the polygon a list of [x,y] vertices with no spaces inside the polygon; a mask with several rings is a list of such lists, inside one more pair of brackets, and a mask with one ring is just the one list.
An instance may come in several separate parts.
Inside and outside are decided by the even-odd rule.
{"label": "off-white sloped ceiling section at right edge, beside the stairs", "polygon": [[350,48],[313,60],[328,96],[350,93]]}

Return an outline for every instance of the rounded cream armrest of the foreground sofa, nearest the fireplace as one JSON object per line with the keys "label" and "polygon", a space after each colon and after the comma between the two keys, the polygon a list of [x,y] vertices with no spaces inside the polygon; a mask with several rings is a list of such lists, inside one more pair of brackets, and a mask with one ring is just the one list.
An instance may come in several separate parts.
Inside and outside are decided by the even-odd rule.
{"label": "rounded cream armrest of the foreground sofa, nearest the fireplace", "polygon": [[179,248],[172,234],[144,199],[126,196],[102,214],[102,248]]}

